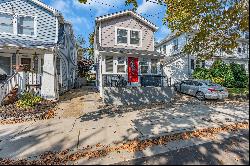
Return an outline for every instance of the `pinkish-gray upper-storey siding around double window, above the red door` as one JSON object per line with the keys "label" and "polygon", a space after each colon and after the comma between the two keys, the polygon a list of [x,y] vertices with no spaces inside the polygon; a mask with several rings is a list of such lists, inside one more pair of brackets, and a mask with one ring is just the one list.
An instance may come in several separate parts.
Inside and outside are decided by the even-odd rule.
{"label": "pinkish-gray upper-storey siding around double window, above the red door", "polygon": [[[102,27],[101,28],[102,47],[114,47],[114,48],[125,47],[128,49],[154,51],[153,30],[132,16],[121,16],[118,18],[103,21],[101,23],[101,27]],[[115,45],[115,27],[124,27],[124,28],[141,30],[142,47]]]}

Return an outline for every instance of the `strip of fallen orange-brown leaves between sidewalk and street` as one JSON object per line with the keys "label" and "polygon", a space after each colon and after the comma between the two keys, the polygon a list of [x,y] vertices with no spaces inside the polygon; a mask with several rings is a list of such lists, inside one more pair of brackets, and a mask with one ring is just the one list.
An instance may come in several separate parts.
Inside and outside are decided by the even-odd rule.
{"label": "strip of fallen orange-brown leaves between sidewalk and street", "polygon": [[216,134],[220,132],[234,132],[241,129],[249,129],[249,122],[239,122],[231,125],[224,125],[221,127],[213,127],[207,129],[199,129],[195,131],[187,131],[182,133],[176,133],[172,135],[160,136],[157,138],[151,138],[146,140],[132,140],[126,143],[117,144],[113,147],[110,146],[102,146],[97,144],[96,147],[103,147],[100,150],[92,150],[87,146],[81,150],[76,152],[71,152],[71,150],[64,150],[60,152],[45,152],[41,154],[38,159],[36,160],[28,160],[28,159],[21,159],[21,160],[11,160],[11,159],[0,159],[1,165],[9,165],[9,164],[23,164],[23,165],[41,165],[41,164],[68,164],[69,162],[77,161],[81,158],[99,158],[104,157],[111,152],[120,151],[128,151],[128,152],[135,152],[135,151],[142,151],[146,148],[155,146],[155,145],[165,145],[171,141],[178,141],[178,140],[188,140],[191,138],[214,138]]}

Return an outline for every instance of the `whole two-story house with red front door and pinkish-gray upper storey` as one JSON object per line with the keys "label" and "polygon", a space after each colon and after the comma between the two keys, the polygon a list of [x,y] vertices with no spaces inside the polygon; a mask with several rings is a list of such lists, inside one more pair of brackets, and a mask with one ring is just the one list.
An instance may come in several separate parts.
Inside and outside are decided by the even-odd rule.
{"label": "whole two-story house with red front door and pinkish-gray upper storey", "polygon": [[[163,56],[154,51],[156,30],[152,22],[131,10],[96,18],[96,85],[104,101],[116,100],[126,104],[143,100],[150,102],[146,95],[159,95],[153,94],[153,91],[150,95],[150,91],[141,88],[162,87],[164,84],[161,70]],[[117,96],[110,99],[115,94]]]}

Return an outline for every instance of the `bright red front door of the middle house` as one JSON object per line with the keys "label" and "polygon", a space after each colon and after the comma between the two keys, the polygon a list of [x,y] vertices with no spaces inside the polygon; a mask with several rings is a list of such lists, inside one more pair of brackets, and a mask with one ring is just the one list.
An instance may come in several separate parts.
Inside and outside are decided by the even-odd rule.
{"label": "bright red front door of the middle house", "polygon": [[138,82],[138,58],[128,57],[128,82]]}

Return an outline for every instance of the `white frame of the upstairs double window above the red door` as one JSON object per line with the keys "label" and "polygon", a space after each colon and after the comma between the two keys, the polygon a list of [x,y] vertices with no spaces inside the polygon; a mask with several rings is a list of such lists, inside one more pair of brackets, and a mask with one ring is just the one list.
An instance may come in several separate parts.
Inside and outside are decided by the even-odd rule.
{"label": "white frame of the upstairs double window above the red door", "polygon": [[[128,31],[128,33],[127,33],[127,44],[117,43],[117,30],[118,29],[124,29],[124,30]],[[135,44],[130,44],[130,31],[138,31],[139,32],[139,34],[140,34],[140,45],[139,46],[135,45]],[[142,30],[115,26],[115,45],[116,46],[132,46],[132,47],[137,47],[137,48],[142,47]]]}

